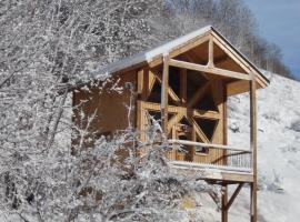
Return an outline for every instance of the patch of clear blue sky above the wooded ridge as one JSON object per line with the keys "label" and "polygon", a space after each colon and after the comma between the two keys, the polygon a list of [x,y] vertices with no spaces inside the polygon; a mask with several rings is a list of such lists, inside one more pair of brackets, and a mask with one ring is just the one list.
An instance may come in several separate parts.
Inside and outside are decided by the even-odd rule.
{"label": "patch of clear blue sky above the wooded ridge", "polygon": [[300,79],[300,0],[244,0],[259,24],[259,34],[278,44],[284,63]]}

